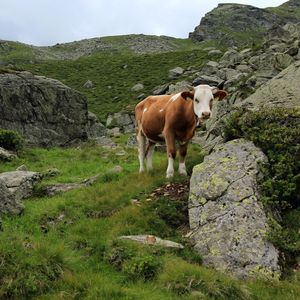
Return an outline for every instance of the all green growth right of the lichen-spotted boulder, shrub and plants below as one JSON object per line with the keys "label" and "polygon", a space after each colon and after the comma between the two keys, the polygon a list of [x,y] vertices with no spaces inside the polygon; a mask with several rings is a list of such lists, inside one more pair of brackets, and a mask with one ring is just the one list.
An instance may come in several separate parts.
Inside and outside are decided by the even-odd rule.
{"label": "all green growth right of the lichen-spotted boulder, shrub and plants below", "polygon": [[267,155],[262,167],[262,201],[282,214],[270,219],[269,240],[285,253],[283,265],[300,256],[300,114],[296,109],[266,108],[234,112],[225,128],[227,140],[244,137]]}

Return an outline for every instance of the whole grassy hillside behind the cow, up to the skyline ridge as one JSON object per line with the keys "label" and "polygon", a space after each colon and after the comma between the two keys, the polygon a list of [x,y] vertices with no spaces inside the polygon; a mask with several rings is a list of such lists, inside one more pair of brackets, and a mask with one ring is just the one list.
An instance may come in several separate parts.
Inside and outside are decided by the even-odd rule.
{"label": "whole grassy hillside behind the cow, up to the skyline ridge", "polygon": [[[128,39],[131,37],[141,37],[146,43],[163,40],[176,51],[136,55],[130,50]],[[0,48],[0,60],[34,74],[58,79],[79,90],[86,95],[89,109],[96,113],[101,121],[106,120],[109,112],[132,111],[141,93],[149,95],[154,87],[170,82],[168,78],[170,69],[177,66],[183,68],[193,66],[197,69],[207,60],[207,52],[203,51],[206,45],[200,47],[189,39],[116,36],[104,37],[101,40],[111,44],[113,50],[94,51],[91,55],[77,60],[50,59],[58,51],[75,53],[76,49],[89,41],[60,44],[42,49],[48,58],[46,61],[37,60],[37,50],[33,47],[8,42],[6,46]],[[94,88],[83,88],[87,80],[92,80]],[[143,83],[144,90],[131,91],[136,83]]]}

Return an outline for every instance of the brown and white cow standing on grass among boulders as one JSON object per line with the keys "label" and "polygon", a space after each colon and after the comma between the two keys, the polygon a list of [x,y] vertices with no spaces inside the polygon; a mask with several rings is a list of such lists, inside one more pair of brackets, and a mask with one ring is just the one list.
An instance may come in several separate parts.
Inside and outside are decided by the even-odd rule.
{"label": "brown and white cow standing on grass among boulders", "polygon": [[[156,142],[167,145],[167,178],[174,175],[175,141],[179,142],[179,173],[186,175],[185,157],[190,139],[199,123],[211,114],[213,99],[222,100],[227,93],[209,85],[199,85],[193,91],[176,95],[149,96],[135,107],[140,172],[152,169],[152,155]],[[148,141],[146,147],[146,141]]]}

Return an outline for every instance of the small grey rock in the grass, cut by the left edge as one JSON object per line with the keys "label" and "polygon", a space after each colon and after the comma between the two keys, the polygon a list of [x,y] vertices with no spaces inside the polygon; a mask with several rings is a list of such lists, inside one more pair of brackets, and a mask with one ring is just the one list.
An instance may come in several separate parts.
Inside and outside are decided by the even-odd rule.
{"label": "small grey rock in the grass, cut by the left edge", "polygon": [[20,200],[32,195],[33,187],[42,179],[37,172],[12,171],[0,174],[0,213],[19,214]]}

